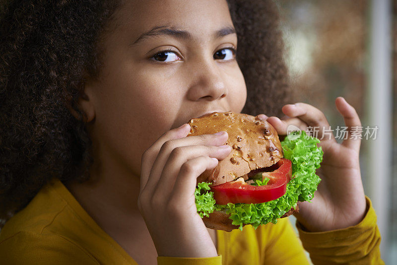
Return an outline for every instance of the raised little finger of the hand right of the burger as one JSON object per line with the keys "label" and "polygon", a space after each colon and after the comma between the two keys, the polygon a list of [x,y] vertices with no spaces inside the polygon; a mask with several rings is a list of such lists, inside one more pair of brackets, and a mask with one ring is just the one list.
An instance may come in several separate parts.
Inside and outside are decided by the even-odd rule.
{"label": "raised little finger of the hand right of the burger", "polygon": [[345,126],[348,128],[347,138],[343,140],[342,145],[359,152],[362,127],[356,110],[343,97],[337,97],[335,99],[335,105],[343,117]]}

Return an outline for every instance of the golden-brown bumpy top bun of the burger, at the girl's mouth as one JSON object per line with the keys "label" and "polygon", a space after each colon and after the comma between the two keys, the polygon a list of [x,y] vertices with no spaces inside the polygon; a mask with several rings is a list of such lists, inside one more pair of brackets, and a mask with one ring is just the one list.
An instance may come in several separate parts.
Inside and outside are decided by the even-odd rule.
{"label": "golden-brown bumpy top bun of the burger, at the girl's mouth", "polygon": [[229,138],[225,144],[233,148],[215,168],[204,171],[198,177],[197,183],[223,184],[251,170],[269,167],[283,157],[276,130],[258,116],[213,112],[190,120],[189,125],[192,129],[188,136],[226,131]]}

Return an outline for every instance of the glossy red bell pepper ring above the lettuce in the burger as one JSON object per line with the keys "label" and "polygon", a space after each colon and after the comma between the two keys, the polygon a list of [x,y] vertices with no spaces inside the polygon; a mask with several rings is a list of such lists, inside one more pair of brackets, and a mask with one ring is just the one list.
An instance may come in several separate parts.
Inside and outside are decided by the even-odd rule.
{"label": "glossy red bell pepper ring above the lettuce in the burger", "polygon": [[286,193],[287,184],[292,176],[292,163],[281,158],[276,164],[277,169],[263,172],[262,180],[270,179],[264,186],[247,184],[243,178],[211,186],[216,204],[261,203],[278,199]]}

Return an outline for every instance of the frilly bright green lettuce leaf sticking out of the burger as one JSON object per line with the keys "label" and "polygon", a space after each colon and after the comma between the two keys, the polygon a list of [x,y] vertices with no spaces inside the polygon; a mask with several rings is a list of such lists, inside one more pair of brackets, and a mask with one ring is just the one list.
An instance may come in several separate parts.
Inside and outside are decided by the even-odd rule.
{"label": "frilly bright green lettuce leaf sticking out of the burger", "polygon": [[[209,184],[206,186],[199,183],[196,194],[207,195],[205,198],[196,197],[196,205],[200,216],[208,216],[214,210],[226,209],[230,214],[232,224],[239,225],[240,230],[243,224],[251,224],[255,229],[268,222],[276,223],[291,207],[296,207],[297,201],[310,201],[320,183],[320,177],[316,175],[316,169],[320,167],[323,160],[323,150],[317,146],[319,139],[308,136],[304,131],[299,135],[287,135],[281,142],[284,151],[284,158],[292,161],[292,179],[287,185],[284,196],[263,202],[263,203],[228,203],[227,205],[215,204],[213,192],[209,191]],[[205,190],[203,189],[205,187]],[[204,193],[203,193],[204,192]],[[212,197],[212,200],[209,198]],[[213,203],[213,204],[212,204]]]}

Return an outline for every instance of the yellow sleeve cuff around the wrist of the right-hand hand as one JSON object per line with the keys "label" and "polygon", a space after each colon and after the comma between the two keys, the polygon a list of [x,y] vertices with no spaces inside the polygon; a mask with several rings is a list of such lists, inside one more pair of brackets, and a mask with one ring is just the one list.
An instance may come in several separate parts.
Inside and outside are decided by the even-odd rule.
{"label": "yellow sleeve cuff around the wrist of the right-hand hand", "polygon": [[376,214],[371,200],[367,213],[355,226],[326,232],[307,232],[299,222],[303,247],[310,253],[314,264],[385,264],[381,260],[381,235],[376,225]]}

